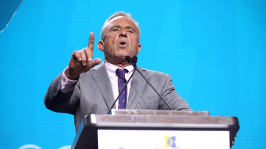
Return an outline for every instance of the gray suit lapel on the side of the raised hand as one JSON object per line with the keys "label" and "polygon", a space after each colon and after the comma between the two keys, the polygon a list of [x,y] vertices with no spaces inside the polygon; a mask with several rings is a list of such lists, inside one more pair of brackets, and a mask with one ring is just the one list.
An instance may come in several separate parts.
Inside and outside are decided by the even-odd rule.
{"label": "gray suit lapel on the side of the raised hand", "polygon": [[[111,81],[108,75],[108,72],[105,68],[104,63],[98,65],[95,68],[92,68],[94,70],[92,72],[92,77],[97,84],[99,90],[102,93],[102,96],[104,97],[104,101],[106,102],[106,106],[108,109],[111,108],[114,99],[113,99],[113,89],[111,86]],[[113,107],[113,109],[116,109],[116,106]]]}

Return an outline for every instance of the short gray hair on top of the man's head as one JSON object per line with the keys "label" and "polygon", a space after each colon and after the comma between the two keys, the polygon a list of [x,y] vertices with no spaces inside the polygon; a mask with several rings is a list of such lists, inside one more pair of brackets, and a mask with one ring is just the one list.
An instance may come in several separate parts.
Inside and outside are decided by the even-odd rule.
{"label": "short gray hair on top of the man's head", "polygon": [[132,20],[132,22],[134,22],[134,24],[137,26],[137,29],[139,30],[139,38],[141,36],[141,29],[139,29],[139,23],[132,17],[132,15],[130,15],[130,13],[125,13],[123,11],[120,12],[116,12],[113,15],[111,15],[108,19],[106,19],[106,21],[104,22],[104,26],[102,26],[102,30],[101,30],[101,39],[104,41],[105,40],[105,34],[106,34],[106,29],[107,29],[107,24],[108,22],[111,21],[111,19],[115,18],[115,17],[128,17],[129,19]]}

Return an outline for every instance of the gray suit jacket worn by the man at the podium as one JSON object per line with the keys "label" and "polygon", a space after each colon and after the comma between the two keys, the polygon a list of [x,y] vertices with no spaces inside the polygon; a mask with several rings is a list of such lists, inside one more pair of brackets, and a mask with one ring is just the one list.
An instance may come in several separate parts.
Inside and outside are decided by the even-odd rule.
{"label": "gray suit jacket worn by the man at the podium", "polygon": [[[174,110],[190,110],[187,102],[175,91],[172,78],[162,72],[138,69],[151,81],[158,92]],[[106,114],[114,102],[111,81],[104,63],[82,73],[77,84],[67,93],[61,90],[62,73],[50,84],[45,94],[45,107],[52,111],[70,113],[75,116],[76,131],[87,114]],[[113,107],[115,109],[116,106]],[[127,109],[169,109],[148,85],[145,79],[135,72],[132,77]]]}

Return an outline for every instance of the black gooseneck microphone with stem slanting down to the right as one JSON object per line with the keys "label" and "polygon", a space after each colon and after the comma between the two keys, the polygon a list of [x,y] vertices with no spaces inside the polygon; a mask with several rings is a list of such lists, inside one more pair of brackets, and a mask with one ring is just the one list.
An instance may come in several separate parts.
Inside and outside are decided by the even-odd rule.
{"label": "black gooseneck microphone with stem slanting down to the right", "polygon": [[136,65],[137,60],[138,60],[137,56],[133,56],[133,58],[131,58],[130,56],[128,56],[128,57],[126,56],[125,59],[127,60],[128,63],[131,63],[134,66],[135,70],[137,70],[139,72],[139,74],[147,81],[147,83],[151,86],[151,88],[153,88],[153,90],[160,96],[162,101],[165,102],[165,104],[167,104],[167,107],[169,107],[169,109],[171,109],[171,110],[174,110],[166,102],[165,98],[162,97],[162,95],[160,95],[160,93],[153,87],[153,85],[150,83],[150,81],[148,81],[148,79],[146,79],[146,77],[144,77],[144,75],[139,71],[139,69],[137,68],[137,65]]}

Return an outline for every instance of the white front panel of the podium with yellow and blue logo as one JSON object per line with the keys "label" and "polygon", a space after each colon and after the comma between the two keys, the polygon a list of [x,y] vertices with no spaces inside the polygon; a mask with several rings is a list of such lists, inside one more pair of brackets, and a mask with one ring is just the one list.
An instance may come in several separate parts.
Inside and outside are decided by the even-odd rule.
{"label": "white front panel of the podium with yellow and blue logo", "polygon": [[98,130],[99,149],[229,149],[229,131]]}

